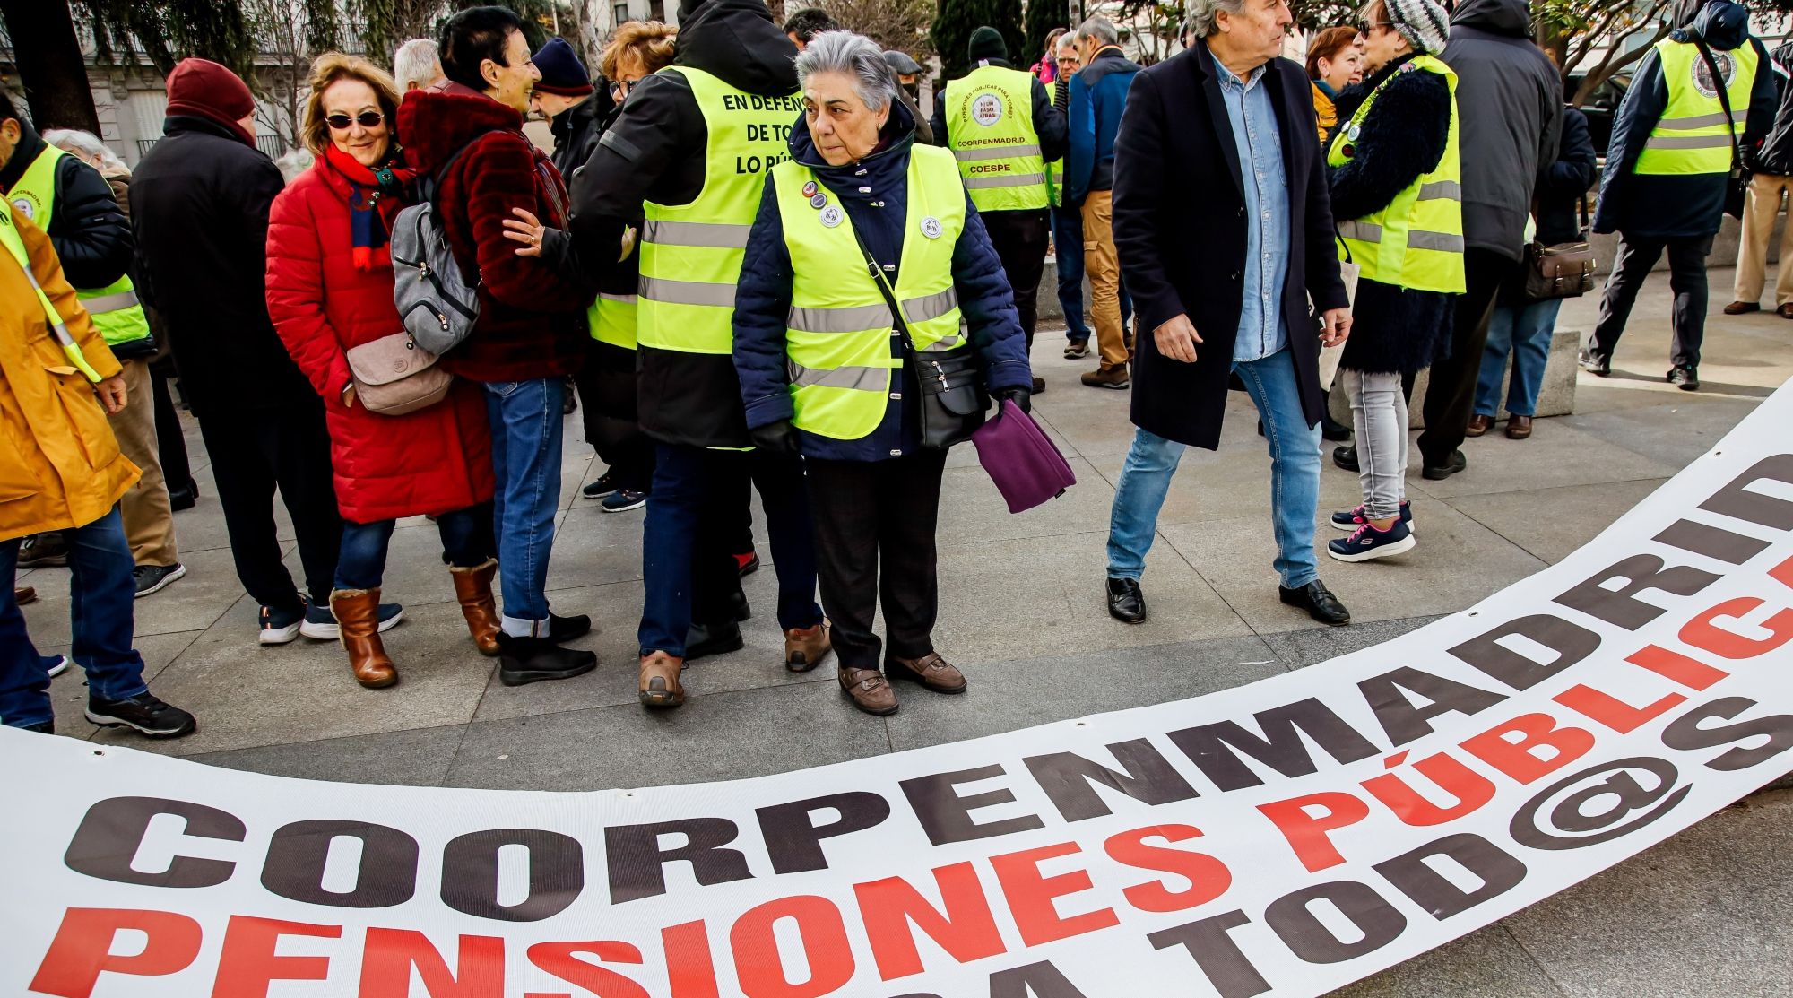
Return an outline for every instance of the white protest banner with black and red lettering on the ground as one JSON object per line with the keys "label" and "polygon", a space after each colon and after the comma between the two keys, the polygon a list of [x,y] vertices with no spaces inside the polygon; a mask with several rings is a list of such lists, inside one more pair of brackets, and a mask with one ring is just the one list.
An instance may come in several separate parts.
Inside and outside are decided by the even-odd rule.
{"label": "white protest banner with black and red lettering on the ground", "polygon": [[1793,768],[1789,422],[1386,644],[784,775],[355,786],[7,729],[0,993],[1320,994]]}

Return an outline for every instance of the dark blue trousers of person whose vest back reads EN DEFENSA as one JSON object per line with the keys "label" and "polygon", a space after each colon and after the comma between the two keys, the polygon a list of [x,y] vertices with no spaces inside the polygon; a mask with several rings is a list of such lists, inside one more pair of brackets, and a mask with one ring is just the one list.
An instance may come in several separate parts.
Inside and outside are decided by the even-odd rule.
{"label": "dark blue trousers of person whose vest back reads EN DEFENSA", "polygon": [[[660,443],[642,530],[645,600],[637,634],[644,655],[685,657],[692,621],[721,623],[741,591],[746,481],[760,490],[766,535],[778,571],[778,626],[821,623],[816,605],[816,540],[803,488],[803,460],[760,451],[706,451]],[[721,617],[721,619],[719,619]]]}

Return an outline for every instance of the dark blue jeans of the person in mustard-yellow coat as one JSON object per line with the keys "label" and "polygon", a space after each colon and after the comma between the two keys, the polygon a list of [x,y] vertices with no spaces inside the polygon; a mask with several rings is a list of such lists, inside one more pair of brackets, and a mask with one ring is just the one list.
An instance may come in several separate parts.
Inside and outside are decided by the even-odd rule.
{"label": "dark blue jeans of the person in mustard-yellow coat", "polygon": [[[86,670],[90,698],[136,696],[149,686],[143,684],[143,657],[131,648],[136,580],[118,508],[86,526],[65,530],[63,537],[68,540],[68,617],[75,635],[68,657]],[[5,592],[0,592],[0,723],[29,727],[54,714],[50,675],[25,634],[25,614],[13,600],[20,540],[0,540],[0,576],[7,580]]]}

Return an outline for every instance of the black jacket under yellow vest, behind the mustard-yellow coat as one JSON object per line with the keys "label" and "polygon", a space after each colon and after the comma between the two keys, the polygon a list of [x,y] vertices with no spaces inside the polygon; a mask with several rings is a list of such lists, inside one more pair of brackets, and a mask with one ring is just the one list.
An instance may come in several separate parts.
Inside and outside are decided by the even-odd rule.
{"label": "black jacket under yellow vest, behind the mustard-yellow coat", "polygon": [[[18,145],[13,158],[0,169],[0,190],[11,194],[18,178],[25,176],[47,147],[30,122],[18,122]],[[126,221],[111,185],[99,171],[77,156],[63,156],[56,163],[56,206],[50,212],[50,246],[63,260],[68,284],[86,291],[106,287],[131,267],[131,223]]]}

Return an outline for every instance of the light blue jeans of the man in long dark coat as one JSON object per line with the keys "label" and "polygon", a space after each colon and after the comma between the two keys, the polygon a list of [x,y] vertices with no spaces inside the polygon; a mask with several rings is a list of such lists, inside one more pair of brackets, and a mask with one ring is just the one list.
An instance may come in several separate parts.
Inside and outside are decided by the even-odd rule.
{"label": "light blue jeans of the man in long dark coat", "polygon": [[[1269,442],[1269,517],[1277,531],[1277,576],[1287,589],[1320,578],[1314,567],[1314,515],[1320,506],[1320,424],[1307,425],[1295,361],[1278,350],[1260,361],[1235,361],[1234,372],[1264,416]],[[1171,488],[1183,445],[1135,431],[1115,506],[1108,519],[1108,576],[1137,580],[1146,571],[1158,510]]]}

